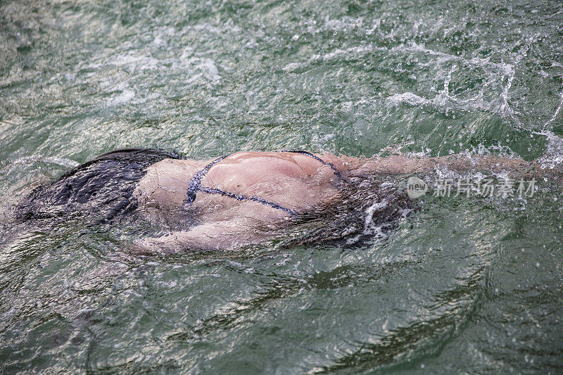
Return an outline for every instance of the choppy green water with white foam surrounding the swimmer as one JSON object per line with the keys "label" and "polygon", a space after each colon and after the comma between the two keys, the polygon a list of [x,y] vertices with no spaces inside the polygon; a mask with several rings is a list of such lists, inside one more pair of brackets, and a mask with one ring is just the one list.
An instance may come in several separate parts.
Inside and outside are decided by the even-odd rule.
{"label": "choppy green water with white foam surrounding the swimmer", "polygon": [[[383,237],[118,262],[6,236],[113,148],[563,153],[560,1],[3,1],[0,372],[563,371],[563,195],[433,198]],[[288,236],[290,236],[288,234]]]}

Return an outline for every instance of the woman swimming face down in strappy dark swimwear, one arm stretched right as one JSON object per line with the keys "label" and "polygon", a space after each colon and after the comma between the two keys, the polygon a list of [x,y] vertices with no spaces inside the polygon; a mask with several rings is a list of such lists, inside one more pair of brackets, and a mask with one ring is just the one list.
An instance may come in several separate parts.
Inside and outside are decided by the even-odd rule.
{"label": "woman swimming face down in strappy dark swimwear, one arm stretched right", "polygon": [[95,211],[109,221],[133,210],[154,222],[189,217],[193,225],[138,241],[137,252],[225,249],[259,243],[294,218],[338,205],[341,187],[373,174],[488,170],[543,173],[537,164],[502,157],[369,159],[306,151],[238,152],[194,160],[157,149],[112,151],[33,191],[20,216],[49,218]]}

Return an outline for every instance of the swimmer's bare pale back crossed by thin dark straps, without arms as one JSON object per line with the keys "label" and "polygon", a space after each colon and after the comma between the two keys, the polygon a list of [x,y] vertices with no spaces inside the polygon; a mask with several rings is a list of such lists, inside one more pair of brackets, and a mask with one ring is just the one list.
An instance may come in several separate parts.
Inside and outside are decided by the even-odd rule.
{"label": "swimmer's bare pale back crossed by thin dark straps, without arms", "polygon": [[[341,160],[331,158],[343,170]],[[134,195],[139,208],[154,215],[160,211],[184,210],[191,179],[210,160],[165,159],[148,167]],[[303,212],[327,204],[337,193],[338,178],[327,164],[300,153],[241,152],[229,155],[210,167],[201,185],[236,196],[260,197],[292,212]],[[199,191],[189,210],[202,222],[243,218],[272,222],[288,217],[257,201],[238,200],[222,194]]]}

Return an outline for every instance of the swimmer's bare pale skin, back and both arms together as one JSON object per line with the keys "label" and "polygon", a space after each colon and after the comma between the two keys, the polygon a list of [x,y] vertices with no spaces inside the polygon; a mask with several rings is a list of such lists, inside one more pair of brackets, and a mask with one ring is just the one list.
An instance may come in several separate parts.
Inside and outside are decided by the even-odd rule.
{"label": "swimmer's bare pale skin, back and both arms together", "polygon": [[[429,173],[437,167],[449,170],[507,172],[514,177],[545,174],[536,163],[498,156],[465,158],[450,155],[439,158],[353,158],[329,153],[317,154],[333,164],[343,179],[368,174]],[[194,174],[210,160],[165,159],[151,167],[139,182],[135,198],[148,218],[165,217],[185,210],[183,203]],[[338,177],[328,165],[299,153],[240,152],[215,164],[201,181],[209,186],[242,196],[258,196],[294,212],[335,204],[339,200]],[[199,191],[189,205],[199,223],[189,230],[172,231],[160,237],[137,241],[134,253],[175,253],[194,249],[228,249],[260,243],[274,229],[291,221],[284,210],[253,201],[237,201],[220,194]]]}

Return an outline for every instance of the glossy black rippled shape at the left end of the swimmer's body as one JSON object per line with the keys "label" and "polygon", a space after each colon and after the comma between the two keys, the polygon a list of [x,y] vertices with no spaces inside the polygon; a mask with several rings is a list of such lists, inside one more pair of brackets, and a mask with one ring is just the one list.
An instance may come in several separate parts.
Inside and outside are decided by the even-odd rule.
{"label": "glossy black rippled shape at the left end of the swimmer's body", "polygon": [[185,159],[158,148],[122,148],[99,155],[53,182],[38,186],[15,209],[20,221],[84,217],[108,222],[137,208],[132,193],[146,168],[165,158]]}

